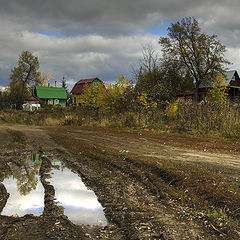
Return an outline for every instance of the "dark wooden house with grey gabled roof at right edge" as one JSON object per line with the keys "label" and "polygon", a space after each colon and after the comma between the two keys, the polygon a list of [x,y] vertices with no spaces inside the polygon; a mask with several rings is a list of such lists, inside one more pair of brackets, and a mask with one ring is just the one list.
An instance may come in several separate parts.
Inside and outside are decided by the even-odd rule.
{"label": "dark wooden house with grey gabled roof at right edge", "polygon": [[[227,71],[223,80],[223,84],[227,85],[228,94],[231,101],[240,100],[240,78],[236,70]],[[213,87],[214,81],[210,83],[202,83],[199,86],[199,98],[204,99],[207,91]]]}

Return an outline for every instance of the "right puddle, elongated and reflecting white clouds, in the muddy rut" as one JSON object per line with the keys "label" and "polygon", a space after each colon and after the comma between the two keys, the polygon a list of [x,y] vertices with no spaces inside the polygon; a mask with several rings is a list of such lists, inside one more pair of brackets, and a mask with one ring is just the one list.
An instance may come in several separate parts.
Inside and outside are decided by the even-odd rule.
{"label": "right puddle, elongated and reflecting white clouds, in the muddy rut", "polygon": [[56,203],[64,207],[64,214],[75,224],[107,225],[103,208],[95,193],[84,185],[81,178],[53,161],[48,179],[55,189]]}

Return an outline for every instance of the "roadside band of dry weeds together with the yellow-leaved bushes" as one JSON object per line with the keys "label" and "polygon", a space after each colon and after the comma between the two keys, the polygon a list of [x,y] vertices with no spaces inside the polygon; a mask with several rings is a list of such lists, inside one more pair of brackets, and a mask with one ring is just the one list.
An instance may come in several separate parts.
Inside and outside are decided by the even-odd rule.
{"label": "roadside band of dry weeds together with the yellow-leaved bushes", "polygon": [[[155,132],[240,137],[240,107],[225,104],[222,98],[200,103],[174,101],[166,106],[158,106],[144,94],[134,101],[129,101],[127,95],[131,97],[131,90],[128,87],[121,91],[117,89],[117,93],[113,88],[111,90],[109,95],[106,94],[106,89],[104,93],[99,92],[100,96],[84,95],[81,106],[44,108],[33,113],[1,110],[0,123],[132,128]],[[88,98],[96,99],[92,99],[90,103]]]}

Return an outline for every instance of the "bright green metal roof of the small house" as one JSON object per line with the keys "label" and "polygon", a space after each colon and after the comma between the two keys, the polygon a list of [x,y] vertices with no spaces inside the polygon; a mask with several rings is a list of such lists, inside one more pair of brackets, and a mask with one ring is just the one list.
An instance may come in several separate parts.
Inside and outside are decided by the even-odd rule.
{"label": "bright green metal roof of the small house", "polygon": [[41,87],[36,86],[36,94],[39,98],[47,99],[67,99],[67,91],[60,87]]}

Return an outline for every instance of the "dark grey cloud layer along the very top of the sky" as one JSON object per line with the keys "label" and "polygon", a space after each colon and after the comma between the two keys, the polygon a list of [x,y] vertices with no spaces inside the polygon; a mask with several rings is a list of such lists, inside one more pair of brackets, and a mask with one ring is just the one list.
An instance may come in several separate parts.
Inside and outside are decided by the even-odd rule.
{"label": "dark grey cloud layer along the very top of the sky", "polygon": [[[129,34],[185,16],[216,19],[216,26],[238,17],[238,1],[217,0],[1,0],[1,18],[23,24],[29,31],[64,34]],[[223,19],[224,17],[224,19]],[[238,21],[239,22],[239,21]]]}

